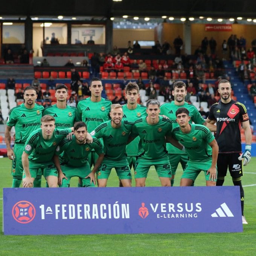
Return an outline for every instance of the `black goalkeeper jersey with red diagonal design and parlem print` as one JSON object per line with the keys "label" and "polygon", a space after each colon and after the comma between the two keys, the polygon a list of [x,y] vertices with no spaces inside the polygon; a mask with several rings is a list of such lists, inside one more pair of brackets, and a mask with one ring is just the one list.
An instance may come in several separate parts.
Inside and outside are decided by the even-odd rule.
{"label": "black goalkeeper jersey with red diagonal design and parlem print", "polygon": [[216,121],[215,139],[219,153],[242,152],[241,123],[249,120],[244,104],[233,100],[227,104],[219,101],[210,108],[208,118]]}

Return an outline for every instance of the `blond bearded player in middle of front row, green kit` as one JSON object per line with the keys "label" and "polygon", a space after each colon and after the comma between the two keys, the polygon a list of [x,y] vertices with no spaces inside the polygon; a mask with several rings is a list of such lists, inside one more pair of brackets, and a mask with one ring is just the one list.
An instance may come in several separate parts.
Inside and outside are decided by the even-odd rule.
{"label": "blond bearded player in middle of front row, green kit", "polygon": [[115,168],[123,187],[131,187],[131,170],[126,157],[126,143],[133,127],[133,122],[123,120],[123,109],[119,104],[111,105],[111,120],[102,123],[90,134],[103,138],[105,157],[97,171],[98,186],[107,186],[111,169]]}

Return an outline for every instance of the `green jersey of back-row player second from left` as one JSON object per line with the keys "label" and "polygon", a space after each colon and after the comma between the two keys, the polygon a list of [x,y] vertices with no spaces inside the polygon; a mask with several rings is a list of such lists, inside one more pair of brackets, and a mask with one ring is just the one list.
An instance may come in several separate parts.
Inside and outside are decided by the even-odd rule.
{"label": "green jersey of back-row player second from left", "polygon": [[73,127],[76,117],[76,108],[67,105],[66,108],[58,108],[57,104],[46,107],[43,116],[50,115],[55,118],[55,127],[65,129]]}

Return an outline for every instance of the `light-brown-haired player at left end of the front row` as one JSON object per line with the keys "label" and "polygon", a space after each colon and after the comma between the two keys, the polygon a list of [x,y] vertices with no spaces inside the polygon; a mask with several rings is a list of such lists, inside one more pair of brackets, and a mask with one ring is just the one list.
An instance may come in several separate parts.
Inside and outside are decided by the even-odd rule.
{"label": "light-brown-haired player at left end of the front row", "polygon": [[58,171],[52,158],[59,142],[72,131],[73,127],[55,129],[55,119],[50,115],[41,118],[41,129],[30,134],[23,149],[23,187],[33,186],[39,169],[42,170],[49,187],[58,186]]}

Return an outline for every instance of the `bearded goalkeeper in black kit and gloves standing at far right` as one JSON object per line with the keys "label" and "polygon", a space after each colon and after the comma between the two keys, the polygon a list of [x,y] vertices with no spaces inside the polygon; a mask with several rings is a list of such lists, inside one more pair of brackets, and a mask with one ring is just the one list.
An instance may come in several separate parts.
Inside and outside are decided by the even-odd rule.
{"label": "bearded goalkeeper in black kit and gloves standing at far right", "polygon": [[[248,224],[244,217],[244,189],[242,187],[242,158],[244,166],[251,160],[251,128],[244,104],[231,99],[231,84],[221,80],[218,92],[221,100],[212,105],[207,118],[209,123],[217,123],[216,141],[219,145],[217,161],[218,177],[216,186],[222,186],[227,168],[229,168],[233,184],[240,187],[242,222]],[[245,134],[245,151],[242,153],[241,125]]]}

